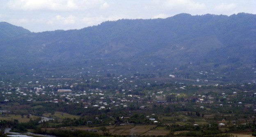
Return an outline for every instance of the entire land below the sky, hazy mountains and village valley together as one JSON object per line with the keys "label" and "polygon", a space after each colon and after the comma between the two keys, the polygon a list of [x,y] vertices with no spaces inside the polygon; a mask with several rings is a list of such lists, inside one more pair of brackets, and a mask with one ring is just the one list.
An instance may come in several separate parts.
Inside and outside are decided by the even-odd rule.
{"label": "entire land below the sky, hazy mountains and village valley together", "polygon": [[0,22],[0,135],[256,136],[255,28],[249,13]]}

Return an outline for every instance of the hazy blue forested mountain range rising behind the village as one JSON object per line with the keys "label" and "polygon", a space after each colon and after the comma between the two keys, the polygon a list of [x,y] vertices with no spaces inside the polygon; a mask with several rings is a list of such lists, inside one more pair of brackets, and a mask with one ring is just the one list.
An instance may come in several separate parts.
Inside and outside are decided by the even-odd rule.
{"label": "hazy blue forested mountain range rising behind the village", "polygon": [[183,13],[166,19],[107,21],[80,30],[42,33],[1,22],[0,58],[3,71],[14,66],[14,73],[27,68],[58,68],[62,73],[95,66],[91,71],[161,71],[181,77],[213,69],[225,77],[254,79],[256,15]]}

